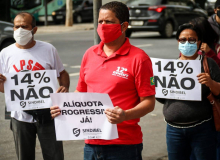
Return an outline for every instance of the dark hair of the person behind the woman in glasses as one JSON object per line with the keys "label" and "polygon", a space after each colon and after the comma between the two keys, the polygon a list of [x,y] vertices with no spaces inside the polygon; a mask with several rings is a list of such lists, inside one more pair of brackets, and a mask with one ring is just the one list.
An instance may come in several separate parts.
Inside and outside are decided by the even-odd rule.
{"label": "dark hair of the person behind the woman in glasses", "polygon": [[190,22],[195,28],[200,30],[203,34],[203,42],[207,43],[209,47],[213,47],[214,43],[218,42],[218,35],[213,30],[212,26],[210,25],[209,21],[204,17],[198,17],[192,19]]}

